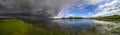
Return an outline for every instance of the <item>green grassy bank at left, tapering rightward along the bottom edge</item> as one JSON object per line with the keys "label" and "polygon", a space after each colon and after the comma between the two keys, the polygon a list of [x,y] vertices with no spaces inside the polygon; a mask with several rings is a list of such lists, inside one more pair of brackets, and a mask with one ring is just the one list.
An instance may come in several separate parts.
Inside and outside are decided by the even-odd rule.
{"label": "green grassy bank at left, tapering rightward along the bottom edge", "polygon": [[0,35],[68,35],[62,30],[47,30],[34,27],[19,19],[0,19]]}

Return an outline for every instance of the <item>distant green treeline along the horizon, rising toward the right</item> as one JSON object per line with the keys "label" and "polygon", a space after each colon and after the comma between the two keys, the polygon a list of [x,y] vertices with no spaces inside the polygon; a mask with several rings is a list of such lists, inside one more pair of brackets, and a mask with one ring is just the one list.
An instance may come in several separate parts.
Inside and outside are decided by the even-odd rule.
{"label": "distant green treeline along the horizon, rising toward the right", "polygon": [[106,21],[120,21],[120,15],[111,15],[111,16],[100,16],[94,18],[83,18],[83,17],[63,17],[61,19],[97,19],[97,20],[106,20]]}

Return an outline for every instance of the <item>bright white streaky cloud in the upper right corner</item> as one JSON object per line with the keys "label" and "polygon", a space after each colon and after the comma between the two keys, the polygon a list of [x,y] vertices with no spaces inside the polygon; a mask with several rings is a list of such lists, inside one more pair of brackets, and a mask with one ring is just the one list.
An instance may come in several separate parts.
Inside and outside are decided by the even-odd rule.
{"label": "bright white streaky cloud in the upper right corner", "polygon": [[96,10],[102,10],[101,12],[98,12],[94,15],[92,15],[93,17],[97,17],[97,16],[104,16],[106,14],[109,13],[113,13],[113,12],[118,12],[120,11],[119,9],[117,9],[114,5],[119,3],[120,1],[118,0],[113,0],[112,2],[109,3],[105,3],[103,5],[99,5],[99,7]]}

